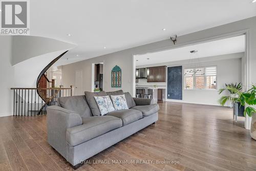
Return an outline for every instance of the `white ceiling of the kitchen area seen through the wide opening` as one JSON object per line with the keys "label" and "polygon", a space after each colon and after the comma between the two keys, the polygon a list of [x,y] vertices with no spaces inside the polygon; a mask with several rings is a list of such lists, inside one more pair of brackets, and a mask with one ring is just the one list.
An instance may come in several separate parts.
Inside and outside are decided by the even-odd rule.
{"label": "white ceiling of the kitchen area seen through the wide opening", "polygon": [[[192,54],[190,53],[191,50],[197,50],[198,52]],[[209,41],[203,44],[137,55],[135,58],[138,60],[136,61],[136,66],[144,66],[155,63],[240,53],[244,51],[245,36],[241,35],[216,41]]]}

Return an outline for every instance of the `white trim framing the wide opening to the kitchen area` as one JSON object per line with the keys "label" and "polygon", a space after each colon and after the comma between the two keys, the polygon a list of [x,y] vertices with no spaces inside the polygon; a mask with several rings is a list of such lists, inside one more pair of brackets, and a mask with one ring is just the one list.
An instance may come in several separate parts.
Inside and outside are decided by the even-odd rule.
{"label": "white trim framing the wide opening to the kitchen area", "polygon": [[[133,54],[132,55],[132,95],[135,97],[135,92],[136,92],[136,56],[138,55],[143,55],[146,53],[154,53],[154,52],[160,52],[160,51],[165,51],[165,50],[170,50],[170,49],[177,49],[181,47],[186,47],[190,45],[196,45],[196,44],[202,44],[204,42],[209,42],[209,41],[214,41],[214,40],[220,40],[224,38],[230,38],[230,37],[235,37],[239,35],[245,35],[245,62],[244,62],[244,70],[245,70],[245,76],[244,76],[244,83],[245,83],[245,90],[248,90],[250,88],[250,30],[249,29],[244,29],[236,32],[230,32],[230,33],[224,33],[224,34],[219,34],[216,36],[211,36],[211,37],[206,37],[202,39],[197,39],[193,41],[188,41],[183,44],[179,44],[176,46],[172,46],[169,48],[163,48],[163,49],[158,49],[155,51],[147,51],[144,53],[139,53],[139,54]],[[167,91],[165,91],[165,97],[167,95]],[[248,117],[246,115],[245,117],[245,129],[250,130],[250,124],[251,124],[251,117]]]}

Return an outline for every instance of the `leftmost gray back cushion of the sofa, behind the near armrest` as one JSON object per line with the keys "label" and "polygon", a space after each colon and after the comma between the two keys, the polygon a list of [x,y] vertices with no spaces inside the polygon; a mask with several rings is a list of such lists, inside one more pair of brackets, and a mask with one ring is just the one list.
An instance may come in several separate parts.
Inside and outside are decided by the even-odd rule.
{"label": "leftmost gray back cushion of the sofa, behind the near armrest", "polygon": [[58,104],[62,108],[78,113],[82,118],[92,116],[92,112],[84,95],[60,97],[58,98]]}

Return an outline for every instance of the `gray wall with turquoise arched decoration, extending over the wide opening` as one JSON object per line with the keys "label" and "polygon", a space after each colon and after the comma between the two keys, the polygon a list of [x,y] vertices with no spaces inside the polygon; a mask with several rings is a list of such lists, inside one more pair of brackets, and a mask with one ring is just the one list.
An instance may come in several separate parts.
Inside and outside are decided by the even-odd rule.
{"label": "gray wall with turquoise arched decoration, extending over the wide opening", "polygon": [[[115,65],[122,69],[122,90],[132,92],[133,84],[133,55],[147,52],[172,49],[190,44],[208,40],[209,37],[216,37],[222,34],[249,30],[249,55],[250,55],[250,73],[256,73],[256,17],[247,18],[238,22],[178,36],[176,46],[169,39],[154,42],[123,51],[106,54],[83,60],[70,65],[63,66],[63,84],[70,86],[75,84],[75,70],[83,70],[83,91],[91,91],[92,63],[104,61],[104,87],[105,91],[118,90],[111,88],[111,70]],[[256,83],[256,77],[250,77],[250,81]]]}

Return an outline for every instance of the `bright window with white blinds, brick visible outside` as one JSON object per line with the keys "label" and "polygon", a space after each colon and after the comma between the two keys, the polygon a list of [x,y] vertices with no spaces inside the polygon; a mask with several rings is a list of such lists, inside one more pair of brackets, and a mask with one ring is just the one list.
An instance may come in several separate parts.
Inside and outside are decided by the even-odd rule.
{"label": "bright window with white blinds, brick visible outside", "polygon": [[217,66],[184,69],[184,89],[217,89]]}

